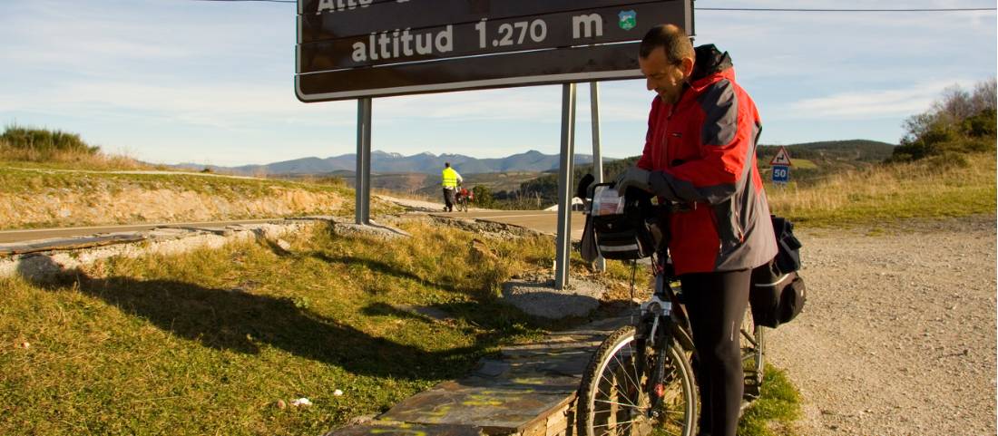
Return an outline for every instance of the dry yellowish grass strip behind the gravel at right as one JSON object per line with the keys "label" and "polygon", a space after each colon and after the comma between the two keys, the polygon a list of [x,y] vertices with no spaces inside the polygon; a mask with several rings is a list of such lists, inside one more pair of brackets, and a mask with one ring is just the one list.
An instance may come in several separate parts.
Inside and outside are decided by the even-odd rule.
{"label": "dry yellowish grass strip behind the gravel at right", "polygon": [[820,226],[994,214],[995,155],[876,166],[766,194],[773,214]]}

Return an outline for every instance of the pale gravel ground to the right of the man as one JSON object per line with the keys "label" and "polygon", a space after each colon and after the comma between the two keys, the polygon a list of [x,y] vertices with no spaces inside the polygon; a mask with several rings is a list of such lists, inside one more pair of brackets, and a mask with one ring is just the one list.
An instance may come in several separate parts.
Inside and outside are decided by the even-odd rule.
{"label": "pale gravel ground to the right of the man", "polygon": [[995,217],[807,230],[804,312],[769,359],[801,435],[994,435]]}

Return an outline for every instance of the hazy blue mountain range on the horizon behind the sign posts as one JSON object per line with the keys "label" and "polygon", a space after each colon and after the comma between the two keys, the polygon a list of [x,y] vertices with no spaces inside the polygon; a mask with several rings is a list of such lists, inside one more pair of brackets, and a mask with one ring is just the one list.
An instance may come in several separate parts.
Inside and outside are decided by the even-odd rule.
{"label": "hazy blue mountain range on the horizon behind the sign posts", "polygon": [[[608,161],[612,161],[612,159],[608,159]],[[558,168],[558,155],[545,155],[541,152],[531,150],[506,158],[477,159],[464,155],[445,154],[437,156],[432,153],[421,153],[413,156],[403,156],[397,153],[375,151],[371,153],[371,173],[437,175],[443,169],[444,162],[449,162],[461,175],[508,172],[543,173]],[[590,163],[593,162],[593,158],[590,155],[576,155],[575,162],[583,164]],[[331,175],[336,172],[355,171],[356,155],[342,155],[326,159],[303,158],[273,164],[242,167],[206,167],[196,164],[181,164],[177,167],[188,170],[209,168],[215,172],[237,175],[318,176]]]}

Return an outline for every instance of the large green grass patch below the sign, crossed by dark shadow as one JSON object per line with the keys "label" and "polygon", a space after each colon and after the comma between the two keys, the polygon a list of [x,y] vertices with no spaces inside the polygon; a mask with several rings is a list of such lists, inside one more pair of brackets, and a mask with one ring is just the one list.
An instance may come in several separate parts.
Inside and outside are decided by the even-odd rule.
{"label": "large green grass patch below the sign, crossed by dark shadow", "polygon": [[318,434],[551,327],[496,299],[510,271],[551,264],[550,238],[489,240],[491,257],[471,233],[403,227],[416,237],[321,227],[290,254],[246,242],[0,280],[0,434]]}

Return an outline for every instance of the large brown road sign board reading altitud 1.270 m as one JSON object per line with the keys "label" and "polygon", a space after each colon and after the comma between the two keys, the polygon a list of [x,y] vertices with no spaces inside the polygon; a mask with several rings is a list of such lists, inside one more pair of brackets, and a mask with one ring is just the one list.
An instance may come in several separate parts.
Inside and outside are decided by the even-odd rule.
{"label": "large brown road sign board reading altitud 1.270 m", "polygon": [[302,102],[633,79],[692,0],[298,0]]}

